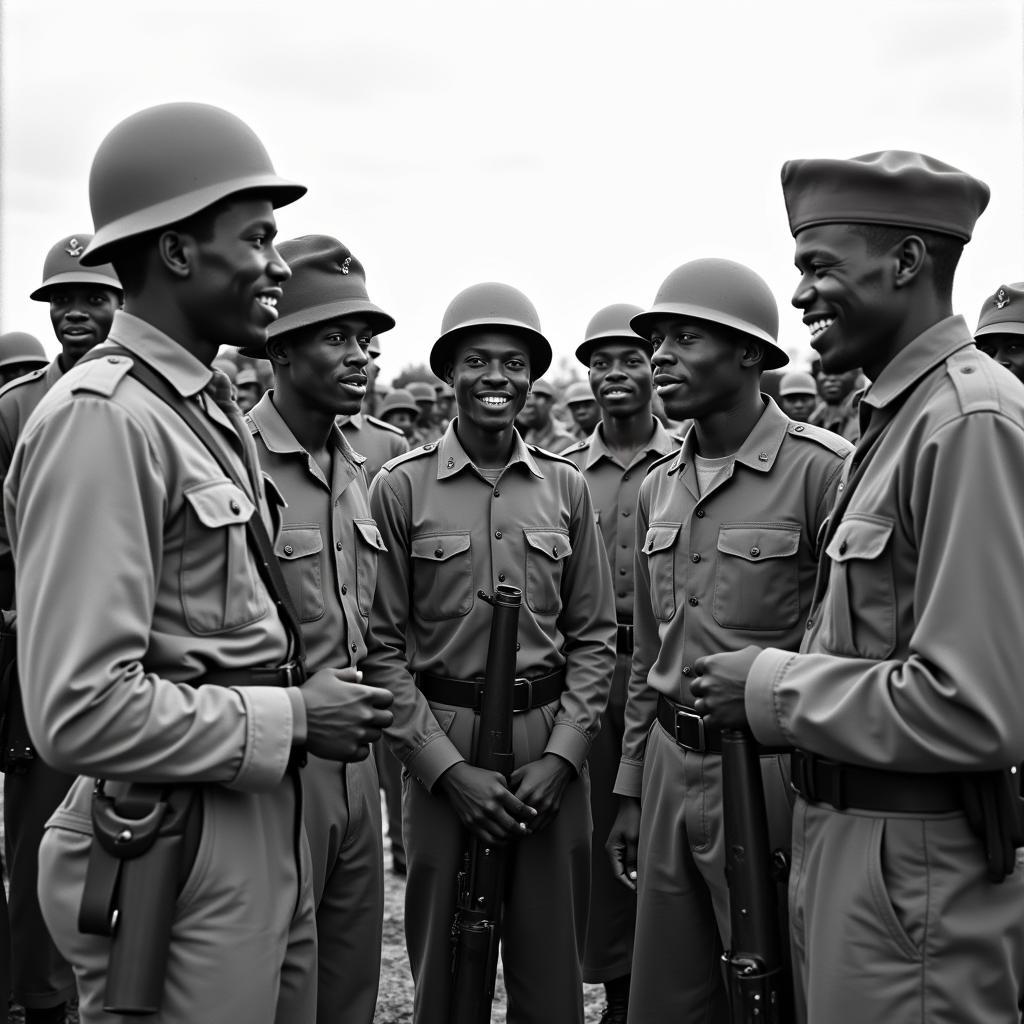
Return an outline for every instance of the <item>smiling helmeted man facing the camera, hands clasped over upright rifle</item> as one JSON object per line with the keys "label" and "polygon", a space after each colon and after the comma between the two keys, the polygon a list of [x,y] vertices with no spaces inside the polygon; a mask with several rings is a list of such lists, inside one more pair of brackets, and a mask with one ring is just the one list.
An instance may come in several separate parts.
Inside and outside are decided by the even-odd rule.
{"label": "smiling helmeted man facing the camera, hands clasped over upright rifle", "polygon": [[[583,1022],[585,762],[607,700],[614,610],[582,474],[524,443],[514,426],[550,361],[521,292],[501,284],[461,292],[430,352],[431,370],[455,388],[458,417],[436,443],[388,463],[371,487],[387,551],[365,668],[394,693],[387,737],[408,771],[406,938],[417,1024],[449,1021],[466,829],[514,847],[502,926],[510,1019]],[[499,584],[523,591],[511,788],[466,760],[490,623],[478,592]]]}

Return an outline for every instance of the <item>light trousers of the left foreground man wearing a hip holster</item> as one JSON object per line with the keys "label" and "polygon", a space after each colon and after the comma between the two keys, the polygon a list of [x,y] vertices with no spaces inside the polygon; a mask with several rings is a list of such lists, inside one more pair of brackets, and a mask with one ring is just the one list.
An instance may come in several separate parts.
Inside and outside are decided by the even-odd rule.
{"label": "light trousers of the left foreground man wearing a hip holster", "polygon": [[[103,1010],[111,940],[78,930],[92,826],[78,779],[39,849],[39,898],[75,969],[82,1024],[137,1020]],[[83,792],[84,791],[84,792]],[[272,790],[203,787],[203,831],[178,894],[164,999],[151,1024],[312,1024],[316,929],[309,846],[293,773]]]}

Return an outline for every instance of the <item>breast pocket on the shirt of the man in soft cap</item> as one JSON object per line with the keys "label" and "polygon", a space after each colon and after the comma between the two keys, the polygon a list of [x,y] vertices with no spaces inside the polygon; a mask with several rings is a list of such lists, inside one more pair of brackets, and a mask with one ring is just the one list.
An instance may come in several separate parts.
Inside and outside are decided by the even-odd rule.
{"label": "breast pocket on the shirt of the man in soft cap", "polygon": [[825,548],[821,640],[834,653],[882,660],[896,649],[893,526],[887,516],[848,514]]}

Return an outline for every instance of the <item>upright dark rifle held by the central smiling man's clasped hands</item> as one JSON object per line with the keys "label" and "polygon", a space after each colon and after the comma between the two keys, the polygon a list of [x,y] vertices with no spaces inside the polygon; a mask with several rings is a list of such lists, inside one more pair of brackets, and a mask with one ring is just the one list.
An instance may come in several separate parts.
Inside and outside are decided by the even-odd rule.
{"label": "upright dark rifle held by the central smiling man's clasped hands", "polygon": [[[499,586],[493,597],[482,591],[479,596],[494,607],[494,614],[473,763],[501,772],[508,781],[513,766],[512,697],[522,592]],[[504,849],[475,837],[468,841],[452,923],[452,1024],[487,1024],[490,1020],[506,857]]]}

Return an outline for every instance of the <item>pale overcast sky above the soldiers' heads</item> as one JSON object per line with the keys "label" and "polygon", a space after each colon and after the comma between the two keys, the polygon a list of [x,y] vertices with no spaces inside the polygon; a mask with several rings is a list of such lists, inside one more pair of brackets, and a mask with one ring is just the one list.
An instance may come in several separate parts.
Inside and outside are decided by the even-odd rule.
{"label": "pale overcast sky above the soldiers' heads", "polygon": [[[775,291],[793,157],[919,150],[987,181],[955,300],[973,327],[1024,280],[1020,0],[3,0],[0,329],[55,340],[28,299],[91,231],[88,172],[144,106],[224,106],[309,186],[281,238],[334,234],[397,328],[382,378],[426,361],[467,285],[535,302],[556,358],[611,302],[648,305],[722,256]],[[582,368],[581,368],[582,369]]]}

